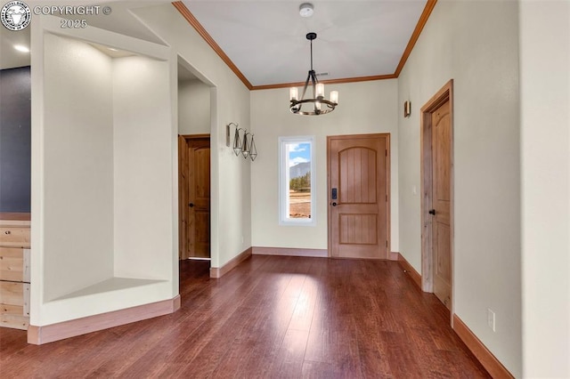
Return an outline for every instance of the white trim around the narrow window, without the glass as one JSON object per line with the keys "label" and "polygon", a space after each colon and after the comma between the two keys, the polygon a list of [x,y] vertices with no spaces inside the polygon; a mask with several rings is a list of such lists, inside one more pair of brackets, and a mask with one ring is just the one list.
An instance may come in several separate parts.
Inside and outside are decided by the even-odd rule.
{"label": "white trim around the narrow window, without the glass", "polygon": [[[311,218],[289,218],[289,153],[285,146],[289,143],[311,144]],[[316,226],[316,162],[314,136],[279,137],[279,224],[283,226]],[[284,168],[287,168],[284,170]]]}

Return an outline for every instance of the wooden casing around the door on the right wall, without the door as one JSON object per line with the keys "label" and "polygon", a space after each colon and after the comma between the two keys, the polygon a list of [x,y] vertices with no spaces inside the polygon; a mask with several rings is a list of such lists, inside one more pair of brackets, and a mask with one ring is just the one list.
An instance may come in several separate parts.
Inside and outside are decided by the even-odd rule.
{"label": "wooden casing around the door on the right wall, without the door", "polygon": [[453,217],[453,79],[447,82],[428,102],[420,109],[420,143],[421,143],[421,289],[424,292],[434,292],[434,254],[432,251],[432,218],[428,214],[432,209],[433,182],[432,182],[432,113],[445,101],[449,101],[451,123],[451,173],[450,173],[450,264],[452,270],[452,304],[451,322],[455,306],[454,295],[454,270],[453,270],[453,240],[454,240],[454,217]]}

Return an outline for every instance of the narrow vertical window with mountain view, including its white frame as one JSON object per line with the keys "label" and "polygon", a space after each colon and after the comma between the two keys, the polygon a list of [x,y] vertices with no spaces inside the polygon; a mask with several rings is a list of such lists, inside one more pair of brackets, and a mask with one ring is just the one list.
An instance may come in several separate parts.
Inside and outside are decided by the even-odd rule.
{"label": "narrow vertical window with mountain view, including its white frame", "polygon": [[314,137],[279,138],[281,225],[316,225]]}

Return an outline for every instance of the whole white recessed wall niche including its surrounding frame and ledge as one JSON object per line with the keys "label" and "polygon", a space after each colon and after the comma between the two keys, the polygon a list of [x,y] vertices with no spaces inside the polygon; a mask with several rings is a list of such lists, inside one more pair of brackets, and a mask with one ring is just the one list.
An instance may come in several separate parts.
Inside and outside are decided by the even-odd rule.
{"label": "whole white recessed wall niche including its surrounding frame and ledge", "polygon": [[[173,299],[176,57],[35,20],[30,325]],[[156,59],[111,60],[85,41]]]}

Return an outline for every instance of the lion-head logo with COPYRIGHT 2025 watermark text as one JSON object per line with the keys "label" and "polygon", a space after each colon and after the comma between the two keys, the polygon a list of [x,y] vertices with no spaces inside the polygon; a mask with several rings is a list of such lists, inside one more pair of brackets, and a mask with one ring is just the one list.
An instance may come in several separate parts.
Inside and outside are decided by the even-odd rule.
{"label": "lion-head logo with COPYRIGHT 2025 watermark text", "polygon": [[32,14],[60,17],[61,28],[87,28],[87,20],[69,17],[109,16],[112,12],[110,6],[102,5],[37,5],[30,9],[23,1],[14,0],[4,4],[0,20],[4,28],[13,31],[28,28]]}

